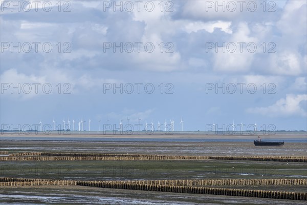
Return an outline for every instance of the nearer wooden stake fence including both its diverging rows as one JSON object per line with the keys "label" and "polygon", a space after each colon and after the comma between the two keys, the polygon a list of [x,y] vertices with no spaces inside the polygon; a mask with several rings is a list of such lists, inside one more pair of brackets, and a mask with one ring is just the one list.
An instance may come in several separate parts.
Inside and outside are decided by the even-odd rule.
{"label": "nearer wooden stake fence including both its diverging rows", "polygon": [[[198,185],[306,185],[306,179],[215,179],[215,180],[145,180],[145,181],[75,181],[48,179],[0,178],[0,186],[89,186],[112,189],[175,192],[189,194],[213,194],[273,199],[307,200],[305,192],[281,192],[267,190],[226,189],[195,187]],[[182,186],[185,185],[185,186]]]}

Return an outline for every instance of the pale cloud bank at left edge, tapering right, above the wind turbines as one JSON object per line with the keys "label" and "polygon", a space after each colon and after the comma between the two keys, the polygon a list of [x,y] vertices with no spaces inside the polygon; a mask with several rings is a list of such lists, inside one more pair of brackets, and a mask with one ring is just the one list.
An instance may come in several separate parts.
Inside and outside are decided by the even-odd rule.
{"label": "pale cloud bank at left edge, tapering right, above the wind turbines", "polygon": [[[1,74],[0,79],[3,94],[17,100],[26,100],[38,95],[61,94],[64,90],[77,95],[82,92],[102,90],[105,83],[124,83],[115,78],[92,77],[90,74],[82,74],[77,77],[58,69],[46,69],[41,74],[30,75],[18,72],[16,69],[9,69]],[[37,84],[37,87],[35,87],[35,84]],[[65,84],[68,86],[65,86]],[[29,85],[31,92],[28,92]],[[45,92],[42,89],[44,85],[47,86],[46,89],[51,87],[52,92]],[[11,90],[12,87],[18,86],[19,93],[17,89]]]}

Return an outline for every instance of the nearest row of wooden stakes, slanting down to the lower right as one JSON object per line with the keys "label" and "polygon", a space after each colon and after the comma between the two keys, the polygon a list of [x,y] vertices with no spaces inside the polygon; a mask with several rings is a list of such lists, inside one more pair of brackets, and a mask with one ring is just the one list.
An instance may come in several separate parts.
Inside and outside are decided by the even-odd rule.
{"label": "nearest row of wooden stakes, slanting down to the lower right", "polygon": [[307,200],[306,192],[280,192],[280,191],[267,191],[267,190],[173,186],[173,185],[157,185],[157,184],[148,184],[148,183],[131,183],[130,181],[74,181],[74,180],[3,181],[3,180],[4,179],[1,179],[0,186],[88,186],[88,187],[101,187],[101,188],[112,188],[112,189],[141,190],[141,191]]}

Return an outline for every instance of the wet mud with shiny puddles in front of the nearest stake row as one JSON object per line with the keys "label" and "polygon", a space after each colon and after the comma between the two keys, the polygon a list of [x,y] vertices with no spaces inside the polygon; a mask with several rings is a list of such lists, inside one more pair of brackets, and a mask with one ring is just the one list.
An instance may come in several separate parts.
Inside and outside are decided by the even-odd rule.
{"label": "wet mud with shiny puddles in front of the nearest stake row", "polygon": [[303,201],[239,196],[182,194],[95,187],[10,187],[0,188],[2,204],[305,204]]}

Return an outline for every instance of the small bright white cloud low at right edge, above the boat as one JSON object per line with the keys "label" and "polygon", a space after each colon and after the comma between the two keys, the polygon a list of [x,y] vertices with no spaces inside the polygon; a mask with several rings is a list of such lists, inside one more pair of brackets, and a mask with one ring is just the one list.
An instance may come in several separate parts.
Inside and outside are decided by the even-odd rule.
{"label": "small bright white cloud low at right edge, above the boat", "polygon": [[247,112],[262,114],[270,117],[278,116],[302,116],[306,117],[306,108],[302,105],[306,104],[307,95],[288,94],[286,98],[281,98],[274,105],[268,107],[249,108]]}

